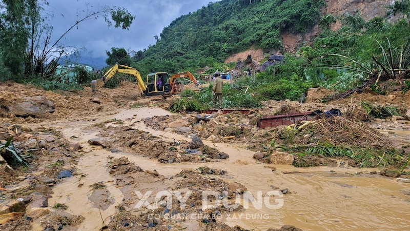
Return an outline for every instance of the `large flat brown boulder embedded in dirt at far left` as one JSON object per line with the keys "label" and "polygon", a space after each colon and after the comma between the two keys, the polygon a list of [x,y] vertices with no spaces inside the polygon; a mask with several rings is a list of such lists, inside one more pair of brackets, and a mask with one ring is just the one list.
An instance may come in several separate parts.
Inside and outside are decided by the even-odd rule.
{"label": "large flat brown boulder embedded in dirt at far left", "polygon": [[54,112],[54,103],[46,97],[26,97],[23,103],[5,105],[9,112],[20,117],[42,117],[44,114]]}

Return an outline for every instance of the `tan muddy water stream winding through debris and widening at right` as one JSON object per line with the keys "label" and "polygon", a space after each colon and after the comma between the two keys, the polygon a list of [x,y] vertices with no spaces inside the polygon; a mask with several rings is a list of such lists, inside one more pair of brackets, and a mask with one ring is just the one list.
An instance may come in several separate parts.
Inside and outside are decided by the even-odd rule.
{"label": "tan muddy water stream winding through debris and widening at right", "polygon": [[[115,186],[115,179],[107,170],[107,157],[125,156],[142,169],[155,169],[160,175],[166,177],[176,175],[183,169],[195,169],[203,165],[227,170],[228,177],[224,180],[243,184],[255,197],[254,204],[249,202],[249,208],[222,217],[223,221],[230,226],[239,225],[247,229],[256,227],[257,230],[278,228],[283,224],[294,225],[303,230],[405,230],[410,227],[409,185],[396,182],[393,178],[367,173],[377,169],[295,168],[288,165],[275,165],[276,170],[273,171],[270,168],[273,166],[256,163],[252,158],[253,151],[231,144],[207,141],[204,141],[204,144],[228,153],[229,159],[209,163],[160,164],[157,159],[124,152],[111,153],[87,143],[96,135],[95,132],[86,129],[89,125],[114,118],[126,124],[137,122],[135,128],[149,131],[165,141],[174,139],[190,141],[189,138],[179,134],[156,131],[138,122],[146,117],[166,114],[170,112],[158,108],[138,108],[99,118],[94,122],[49,124],[61,129],[66,138],[77,137],[76,142],[83,146],[85,151],[77,165],[79,174],[55,186],[49,204],[65,203],[68,205],[66,210],[68,213],[84,216],[85,221],[81,223],[79,230],[99,230],[104,224],[110,222],[110,216],[116,213],[115,206],[124,198],[121,190]],[[111,125],[115,126],[115,124]],[[283,173],[289,171],[311,173]],[[109,191],[110,205],[105,210],[98,208],[90,198],[91,189],[88,185],[96,182],[104,182]],[[79,183],[84,186],[77,187]],[[289,189],[290,193],[281,197],[283,206],[279,206],[274,201],[278,197],[268,197],[268,204],[276,203],[277,208],[269,208],[265,205],[266,201],[261,201],[263,197],[258,198],[258,192],[265,195],[273,190],[273,186]],[[190,229],[192,226],[188,223],[189,221],[182,227],[188,225],[187,230],[195,230]],[[36,230],[38,228],[34,227]]]}

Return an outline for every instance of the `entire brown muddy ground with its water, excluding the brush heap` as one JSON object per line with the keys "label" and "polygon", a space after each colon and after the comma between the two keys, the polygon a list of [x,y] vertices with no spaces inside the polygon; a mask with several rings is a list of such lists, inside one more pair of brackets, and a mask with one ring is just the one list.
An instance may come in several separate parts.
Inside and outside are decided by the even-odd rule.
{"label": "entire brown muddy ground with its water, excluding the brush heap", "polygon": [[[2,230],[410,226],[410,184],[381,176],[379,168],[324,157],[314,161],[318,166],[297,168],[288,153],[278,152],[269,162],[255,154],[275,137],[273,129],[256,127],[260,114],[331,108],[345,113],[358,98],[406,108],[408,92],[353,95],[327,104],[271,101],[250,115],[215,114],[198,121],[196,113],[165,110],[172,99],[136,98],[131,83],[96,93],[86,88],[58,94],[15,83],[0,87],[0,140],[12,134],[14,145],[32,155],[30,168],[11,164],[10,170],[2,164],[0,186],[7,189],[0,190]],[[43,110],[52,112],[12,113],[17,109],[10,105],[38,96],[46,98]],[[410,125],[405,112],[366,126],[383,143],[406,152]]]}

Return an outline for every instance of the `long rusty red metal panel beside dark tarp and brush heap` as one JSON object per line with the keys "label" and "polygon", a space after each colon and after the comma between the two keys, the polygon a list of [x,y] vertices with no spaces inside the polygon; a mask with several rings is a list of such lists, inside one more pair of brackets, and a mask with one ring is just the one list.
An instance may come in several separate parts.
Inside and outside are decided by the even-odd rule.
{"label": "long rusty red metal panel beside dark tarp and brush heap", "polygon": [[280,125],[295,124],[295,123],[298,123],[299,121],[309,121],[309,120],[317,120],[317,119],[318,119],[318,116],[312,115],[312,112],[273,115],[270,117],[260,118],[258,120],[258,127],[260,128],[277,127]]}

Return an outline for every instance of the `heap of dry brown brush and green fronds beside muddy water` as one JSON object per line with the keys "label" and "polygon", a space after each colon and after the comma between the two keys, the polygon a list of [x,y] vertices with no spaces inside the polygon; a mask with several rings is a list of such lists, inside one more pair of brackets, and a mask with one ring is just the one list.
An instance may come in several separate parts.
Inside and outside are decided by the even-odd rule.
{"label": "heap of dry brown brush and green fronds beside muddy water", "polygon": [[333,166],[334,161],[329,162],[326,158],[347,158],[354,161],[353,166],[399,167],[408,159],[373,128],[343,117],[320,118],[287,126],[277,141],[282,142],[277,147],[295,155],[295,166],[317,163]]}

